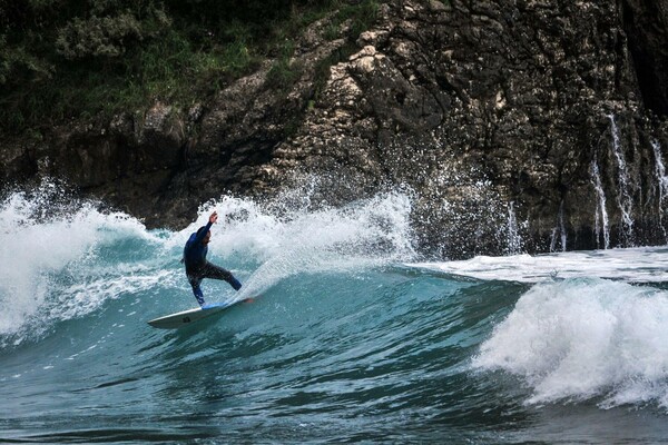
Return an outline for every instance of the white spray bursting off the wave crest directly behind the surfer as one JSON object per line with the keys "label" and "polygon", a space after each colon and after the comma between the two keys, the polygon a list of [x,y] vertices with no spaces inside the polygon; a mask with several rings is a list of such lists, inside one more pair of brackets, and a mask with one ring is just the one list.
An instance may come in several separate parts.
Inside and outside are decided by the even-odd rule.
{"label": "white spray bursting off the wave crest directly behind the surfer", "polygon": [[281,215],[252,200],[222,197],[200,209],[197,221],[176,237],[177,245],[205,225],[214,209],[219,219],[212,229],[212,260],[243,254],[258,265],[237,298],[297,274],[358,269],[414,255],[411,201],[402,194],[379,195],[344,208],[283,207]]}

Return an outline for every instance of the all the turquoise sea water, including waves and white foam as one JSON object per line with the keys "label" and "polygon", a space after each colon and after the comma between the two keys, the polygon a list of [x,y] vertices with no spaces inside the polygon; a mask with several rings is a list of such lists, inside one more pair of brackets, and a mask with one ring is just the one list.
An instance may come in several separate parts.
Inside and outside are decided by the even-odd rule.
{"label": "all the turquoise sea water, including waves and white foam", "polygon": [[[0,442],[668,442],[666,247],[424,263],[401,194],[169,231],[48,189],[0,205]],[[253,301],[151,328],[213,209],[205,297]]]}

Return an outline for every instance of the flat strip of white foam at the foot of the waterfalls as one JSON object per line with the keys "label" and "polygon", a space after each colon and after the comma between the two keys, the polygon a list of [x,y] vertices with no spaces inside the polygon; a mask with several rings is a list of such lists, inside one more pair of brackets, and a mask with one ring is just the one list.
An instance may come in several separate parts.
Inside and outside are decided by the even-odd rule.
{"label": "flat strip of white foam at the foot of the waterfalls", "polygon": [[668,281],[667,258],[667,247],[639,247],[537,256],[479,256],[468,260],[420,263],[410,266],[470,278],[518,283],[578,277],[664,283]]}

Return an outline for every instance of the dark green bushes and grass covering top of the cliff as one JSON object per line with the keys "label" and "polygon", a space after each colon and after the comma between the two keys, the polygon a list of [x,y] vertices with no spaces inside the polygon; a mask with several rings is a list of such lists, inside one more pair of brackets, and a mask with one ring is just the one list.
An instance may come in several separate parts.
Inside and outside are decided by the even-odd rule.
{"label": "dark green bushes and grass covering top of the cliff", "polygon": [[332,38],[371,24],[374,0],[0,0],[0,134],[189,106],[267,57],[267,87],[299,76],[296,36],[334,13]]}

